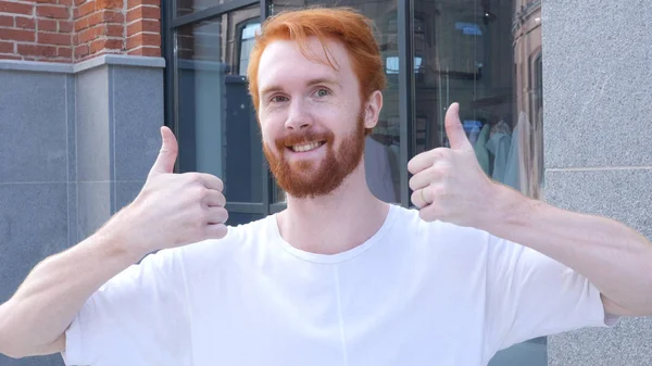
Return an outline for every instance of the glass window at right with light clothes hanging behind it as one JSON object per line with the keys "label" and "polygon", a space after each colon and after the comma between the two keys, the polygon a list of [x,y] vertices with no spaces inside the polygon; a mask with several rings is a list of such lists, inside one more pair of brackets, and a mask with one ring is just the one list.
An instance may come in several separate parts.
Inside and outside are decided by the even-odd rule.
{"label": "glass window at right with light clothes hanging behind it", "polygon": [[[460,117],[485,173],[540,198],[540,1],[416,0],[414,5],[417,72],[410,157],[449,147],[444,115],[460,102]],[[547,365],[546,338],[499,352],[490,366],[526,364]]]}

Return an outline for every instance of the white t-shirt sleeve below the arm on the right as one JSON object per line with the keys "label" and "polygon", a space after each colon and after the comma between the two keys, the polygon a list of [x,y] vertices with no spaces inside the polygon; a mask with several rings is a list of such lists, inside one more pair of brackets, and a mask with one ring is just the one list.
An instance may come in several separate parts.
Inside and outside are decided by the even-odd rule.
{"label": "white t-shirt sleeve below the arm on the right", "polygon": [[600,291],[567,266],[516,243],[489,237],[487,331],[494,352],[526,340],[585,327],[607,327]]}

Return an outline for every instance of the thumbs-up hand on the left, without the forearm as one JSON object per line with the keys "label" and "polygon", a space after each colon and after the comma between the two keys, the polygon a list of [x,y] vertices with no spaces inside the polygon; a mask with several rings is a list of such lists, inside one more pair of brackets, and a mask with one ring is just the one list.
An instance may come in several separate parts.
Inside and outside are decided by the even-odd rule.
{"label": "thumbs-up hand on the left, without the forearm", "polygon": [[228,213],[220,178],[201,173],[173,174],[177,141],[167,127],[147,181],[131,204],[106,225],[128,250],[148,254],[226,236]]}

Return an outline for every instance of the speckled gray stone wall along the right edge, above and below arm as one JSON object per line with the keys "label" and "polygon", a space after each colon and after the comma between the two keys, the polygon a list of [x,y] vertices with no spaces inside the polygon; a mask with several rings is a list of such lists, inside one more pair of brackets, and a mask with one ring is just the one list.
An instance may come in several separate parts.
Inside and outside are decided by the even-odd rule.
{"label": "speckled gray stone wall along the right edge, above and below arm", "polygon": [[[649,1],[544,0],[546,198],[652,239]],[[652,365],[652,318],[551,337],[549,365]]]}

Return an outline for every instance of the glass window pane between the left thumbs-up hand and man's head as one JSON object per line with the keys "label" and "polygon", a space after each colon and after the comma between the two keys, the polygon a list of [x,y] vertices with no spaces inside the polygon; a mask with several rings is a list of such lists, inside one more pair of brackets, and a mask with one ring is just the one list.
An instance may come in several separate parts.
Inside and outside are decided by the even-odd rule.
{"label": "glass window pane between the left thumbs-up hand and man's head", "polygon": [[240,75],[242,35],[259,14],[256,4],[176,31],[179,169],[221,177],[228,202],[263,202],[259,126]]}

